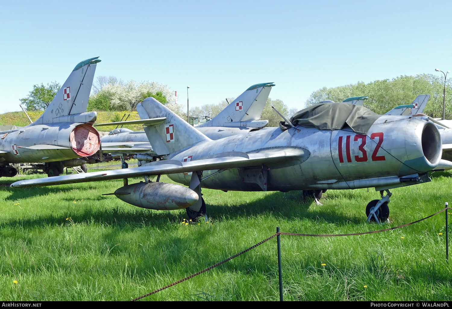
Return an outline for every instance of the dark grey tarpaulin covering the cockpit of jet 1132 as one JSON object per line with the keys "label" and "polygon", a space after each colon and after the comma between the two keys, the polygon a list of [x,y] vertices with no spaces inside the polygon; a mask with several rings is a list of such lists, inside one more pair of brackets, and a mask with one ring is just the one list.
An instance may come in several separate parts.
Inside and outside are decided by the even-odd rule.
{"label": "dark grey tarpaulin covering the cockpit of jet 1132", "polygon": [[315,126],[319,130],[340,130],[347,124],[356,133],[367,134],[379,117],[381,115],[361,105],[320,103],[296,112],[289,121],[293,125]]}

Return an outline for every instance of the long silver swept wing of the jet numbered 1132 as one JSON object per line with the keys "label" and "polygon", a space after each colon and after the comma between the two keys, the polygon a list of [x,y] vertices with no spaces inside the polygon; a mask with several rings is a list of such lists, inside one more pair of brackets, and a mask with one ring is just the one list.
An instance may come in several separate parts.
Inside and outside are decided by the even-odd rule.
{"label": "long silver swept wing of the jet numbered 1132", "polygon": [[309,152],[298,147],[263,149],[255,153],[233,151],[210,155],[198,160],[179,162],[177,160],[161,160],[132,169],[116,169],[111,171],[82,173],[21,180],[11,184],[14,188],[43,187],[66,183],[84,183],[91,181],[134,178],[159,174],[189,173],[203,170],[221,170],[247,166],[266,166],[273,168],[300,164],[307,159]]}

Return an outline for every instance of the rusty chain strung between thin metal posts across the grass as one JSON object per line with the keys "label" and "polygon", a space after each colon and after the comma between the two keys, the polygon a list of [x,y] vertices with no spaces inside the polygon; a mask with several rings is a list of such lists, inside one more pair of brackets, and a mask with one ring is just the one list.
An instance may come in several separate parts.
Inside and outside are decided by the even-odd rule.
{"label": "rusty chain strung between thin metal posts across the grass", "polygon": [[313,237],[333,237],[333,236],[356,236],[356,235],[364,235],[364,234],[380,233],[380,232],[390,231],[390,230],[393,230],[393,229],[399,229],[399,228],[402,228],[402,227],[405,227],[405,226],[408,226],[408,225],[412,225],[412,224],[414,224],[414,223],[418,223],[418,222],[420,222],[420,221],[423,221],[423,220],[426,220],[426,219],[428,219],[428,218],[430,218],[430,217],[433,217],[434,215],[438,215],[439,213],[441,213],[441,212],[443,212],[443,211],[447,211],[448,209],[451,209],[451,210],[452,210],[452,208],[450,208],[450,207],[445,207],[445,208],[443,208],[442,210],[440,210],[440,211],[434,213],[433,215],[429,215],[429,216],[427,216],[427,217],[425,217],[425,218],[416,220],[416,221],[414,221],[414,222],[410,222],[410,223],[407,223],[407,224],[404,224],[404,225],[399,225],[399,226],[396,226],[396,227],[393,227],[393,228],[389,228],[389,229],[380,229],[380,230],[377,230],[377,231],[371,231],[371,232],[352,233],[352,234],[297,234],[297,233],[284,233],[284,232],[278,232],[278,233],[276,233],[276,234],[274,234],[274,235],[268,237],[267,239],[264,239],[264,240],[261,241],[260,243],[256,243],[254,246],[252,246],[252,247],[250,247],[250,248],[248,248],[248,249],[245,249],[245,250],[243,250],[242,252],[237,253],[237,254],[235,254],[235,255],[233,255],[233,256],[227,258],[226,260],[223,260],[223,261],[221,261],[221,262],[219,262],[219,263],[217,263],[217,264],[215,264],[215,265],[212,265],[211,267],[208,267],[208,268],[206,268],[206,269],[204,269],[204,270],[202,270],[202,271],[200,271],[200,272],[197,272],[196,274],[193,274],[193,275],[191,275],[191,276],[185,277],[184,279],[181,279],[181,280],[179,280],[179,281],[173,282],[173,283],[171,283],[171,284],[168,285],[168,286],[164,286],[164,287],[162,287],[162,288],[160,288],[160,289],[158,289],[158,290],[155,290],[155,291],[152,291],[152,292],[147,293],[147,294],[145,294],[145,295],[142,295],[142,296],[140,296],[140,297],[137,297],[137,298],[135,298],[135,299],[133,299],[133,300],[131,300],[131,301],[141,300],[142,298],[145,298],[145,297],[147,297],[147,296],[149,296],[149,295],[155,294],[155,293],[157,293],[157,292],[160,292],[161,290],[165,290],[165,289],[167,289],[167,288],[169,288],[169,287],[171,287],[171,286],[175,286],[176,284],[179,284],[179,283],[184,282],[184,281],[186,281],[186,280],[188,280],[188,279],[191,279],[191,278],[193,278],[194,276],[198,276],[198,275],[202,274],[203,272],[207,272],[207,271],[211,270],[212,268],[215,268],[215,267],[217,267],[217,266],[220,266],[221,264],[226,263],[226,262],[228,262],[228,261],[231,261],[233,258],[238,257],[238,256],[242,255],[243,253],[248,252],[248,251],[250,251],[251,249],[256,248],[257,246],[260,246],[261,244],[267,242],[268,240],[270,240],[270,239],[272,239],[272,238],[274,238],[274,237],[276,237],[276,236],[278,236],[278,235],[313,236]]}

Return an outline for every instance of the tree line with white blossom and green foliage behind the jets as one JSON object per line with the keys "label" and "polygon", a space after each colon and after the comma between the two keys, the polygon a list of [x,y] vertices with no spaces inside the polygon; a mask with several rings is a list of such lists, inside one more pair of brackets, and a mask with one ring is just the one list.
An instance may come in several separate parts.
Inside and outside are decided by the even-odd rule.
{"label": "tree line with white blossom and green foliage behind the jets", "polygon": [[[311,93],[306,100],[306,106],[324,100],[342,102],[345,98],[356,96],[367,96],[364,106],[378,114],[384,114],[398,105],[410,104],[419,94],[430,94],[424,113],[437,118],[443,115],[443,87],[442,76],[433,74],[420,74],[416,76],[398,76],[391,80],[375,80],[370,83],[358,82],[344,86],[327,88],[323,87]],[[47,108],[53,97],[56,95],[61,85],[51,82],[47,85],[35,84],[33,90],[26,98],[20,99],[21,103],[30,111],[44,110]],[[452,119],[452,83],[446,82],[446,118]],[[180,117],[187,117],[185,104],[177,104],[174,92],[167,85],[157,82],[136,82],[130,80],[124,82],[114,76],[99,76],[93,84],[92,94],[88,101],[88,111],[132,111],[137,104],[148,97],[153,97]],[[230,103],[235,98],[228,98]],[[200,107],[190,109],[190,116],[211,117],[223,110],[228,102],[222,100],[219,103],[205,104]],[[279,116],[273,111],[271,106],[277,108],[284,116],[291,117],[296,109],[289,109],[287,105],[279,99],[268,98],[261,119],[269,121],[268,126],[278,126]]]}

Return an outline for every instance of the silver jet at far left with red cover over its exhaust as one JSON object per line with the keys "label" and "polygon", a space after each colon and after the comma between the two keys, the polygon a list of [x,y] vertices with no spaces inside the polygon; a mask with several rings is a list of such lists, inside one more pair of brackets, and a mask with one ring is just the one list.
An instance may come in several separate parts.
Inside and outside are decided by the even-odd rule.
{"label": "silver jet at far left with red cover over its exhaust", "polygon": [[62,172],[62,161],[88,157],[99,150],[99,132],[92,126],[97,114],[86,112],[86,107],[100,61],[95,57],[77,64],[38,120],[0,132],[0,176],[16,175],[9,164],[35,162],[48,163],[52,176]]}

